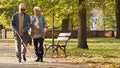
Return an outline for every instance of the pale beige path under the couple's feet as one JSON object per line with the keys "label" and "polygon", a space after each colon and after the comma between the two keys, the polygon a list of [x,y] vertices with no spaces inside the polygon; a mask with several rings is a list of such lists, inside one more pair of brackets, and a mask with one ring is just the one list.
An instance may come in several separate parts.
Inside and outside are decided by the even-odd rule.
{"label": "pale beige path under the couple's feet", "polygon": [[32,58],[27,55],[27,61],[17,62],[15,47],[12,43],[0,43],[0,68],[89,68],[86,64],[75,64],[65,61],[65,58],[44,58],[44,62],[34,62],[34,50],[30,49]]}

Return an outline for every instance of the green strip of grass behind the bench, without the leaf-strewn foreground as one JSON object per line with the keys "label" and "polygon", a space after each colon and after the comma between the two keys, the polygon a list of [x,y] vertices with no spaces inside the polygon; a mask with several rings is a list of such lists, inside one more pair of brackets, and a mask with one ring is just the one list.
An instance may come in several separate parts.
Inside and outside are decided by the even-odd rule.
{"label": "green strip of grass behind the bench, without the leaf-strewn foreground", "polygon": [[[51,43],[51,39],[45,39],[45,42]],[[55,39],[56,42],[56,39]],[[89,49],[77,48],[77,39],[70,39],[67,45],[68,56],[81,57],[83,54],[101,57],[120,57],[120,39],[115,38],[88,38]]]}

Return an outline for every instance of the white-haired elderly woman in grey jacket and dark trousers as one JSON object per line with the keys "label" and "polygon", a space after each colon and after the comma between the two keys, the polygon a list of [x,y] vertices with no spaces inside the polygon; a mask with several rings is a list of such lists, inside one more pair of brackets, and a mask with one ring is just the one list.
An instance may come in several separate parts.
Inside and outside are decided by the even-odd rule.
{"label": "white-haired elderly woman in grey jacket and dark trousers", "polygon": [[31,16],[31,36],[33,38],[34,50],[37,56],[35,62],[43,62],[43,41],[47,24],[45,17],[41,14],[41,9],[38,6],[33,8],[34,15]]}

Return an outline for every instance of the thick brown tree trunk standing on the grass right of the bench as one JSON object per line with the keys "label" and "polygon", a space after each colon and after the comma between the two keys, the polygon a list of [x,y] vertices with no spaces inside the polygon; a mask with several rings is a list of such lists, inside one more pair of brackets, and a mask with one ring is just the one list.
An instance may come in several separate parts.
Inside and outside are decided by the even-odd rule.
{"label": "thick brown tree trunk standing on the grass right of the bench", "polygon": [[[79,5],[84,0],[79,0]],[[83,6],[79,9],[79,21],[78,21],[78,48],[88,49],[87,45],[87,33],[86,33],[86,8]]]}

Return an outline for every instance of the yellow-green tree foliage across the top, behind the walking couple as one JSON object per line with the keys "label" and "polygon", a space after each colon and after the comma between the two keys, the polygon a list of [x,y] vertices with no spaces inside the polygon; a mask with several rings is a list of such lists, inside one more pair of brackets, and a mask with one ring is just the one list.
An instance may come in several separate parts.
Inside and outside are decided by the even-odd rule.
{"label": "yellow-green tree foliage across the top, behind the walking couple", "polygon": [[[25,3],[30,15],[33,14],[33,7],[40,6],[45,15],[48,27],[52,27],[52,16],[54,11],[55,27],[61,28],[62,20],[69,14],[69,22],[78,27],[78,0],[0,0],[0,24],[5,28],[10,28],[12,14],[18,11],[18,5]],[[105,28],[115,27],[115,2],[114,0],[85,0],[87,9],[87,27],[89,27],[90,11],[97,8],[103,11]]]}

